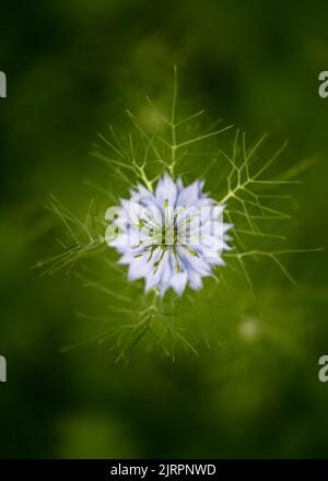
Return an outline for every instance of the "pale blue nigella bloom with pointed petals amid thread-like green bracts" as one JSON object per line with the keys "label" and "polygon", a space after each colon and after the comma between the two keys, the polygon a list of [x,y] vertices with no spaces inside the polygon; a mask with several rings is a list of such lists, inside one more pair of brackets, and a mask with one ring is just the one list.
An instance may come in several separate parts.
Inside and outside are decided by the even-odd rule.
{"label": "pale blue nigella bloom with pointed petals amid thread-like green bracts", "polygon": [[231,224],[223,222],[224,206],[202,191],[203,184],[184,187],[180,178],[174,181],[165,174],[154,192],[139,184],[129,200],[120,200],[120,209],[107,211],[113,224],[106,239],[122,255],[119,263],[129,266],[129,280],[145,279],[147,292],[199,290],[214,266],[224,266]]}

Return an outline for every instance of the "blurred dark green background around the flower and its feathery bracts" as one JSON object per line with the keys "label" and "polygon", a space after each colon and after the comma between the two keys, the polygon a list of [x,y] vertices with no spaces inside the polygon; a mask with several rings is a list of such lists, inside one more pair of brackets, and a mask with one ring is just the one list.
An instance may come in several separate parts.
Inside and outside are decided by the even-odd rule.
{"label": "blurred dark green background around the flower and its feathery bracts", "polygon": [[85,210],[94,193],[84,179],[110,175],[90,156],[96,132],[124,129],[124,109],[144,93],[169,92],[173,63],[181,108],[204,107],[253,139],[288,137],[282,171],[313,164],[291,189],[289,246],[327,246],[328,98],[317,93],[327,14],[324,1],[1,5],[2,458],[327,457],[328,385],[317,377],[328,354],[326,253],[285,259],[296,286],[256,263],[262,318],[238,277],[210,301],[185,301],[208,342],[194,339],[200,357],[179,347],[175,364],[142,344],[128,366],[95,342],[60,353],[102,330],[74,313],[104,312],[106,298],[74,275],[31,270],[56,249],[49,193]]}

